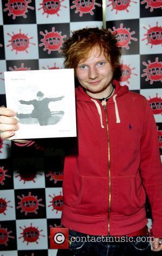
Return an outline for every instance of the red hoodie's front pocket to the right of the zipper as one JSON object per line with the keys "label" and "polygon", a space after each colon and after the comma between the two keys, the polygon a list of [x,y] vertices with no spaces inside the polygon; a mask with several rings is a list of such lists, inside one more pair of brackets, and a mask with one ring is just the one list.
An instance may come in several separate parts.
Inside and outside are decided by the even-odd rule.
{"label": "red hoodie's front pocket to the right of the zipper", "polygon": [[[117,178],[116,212],[119,219],[131,216],[144,207],[146,194],[140,175]],[[120,217],[119,217],[120,216]]]}

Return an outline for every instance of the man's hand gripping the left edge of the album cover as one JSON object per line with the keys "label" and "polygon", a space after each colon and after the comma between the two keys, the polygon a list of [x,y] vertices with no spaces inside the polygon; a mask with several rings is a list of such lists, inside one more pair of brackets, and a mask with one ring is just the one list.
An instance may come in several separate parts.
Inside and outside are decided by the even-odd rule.
{"label": "man's hand gripping the left edge of the album cover", "polygon": [[0,132],[3,140],[8,140],[15,135],[15,130],[19,129],[18,120],[14,116],[16,116],[14,110],[0,107]]}

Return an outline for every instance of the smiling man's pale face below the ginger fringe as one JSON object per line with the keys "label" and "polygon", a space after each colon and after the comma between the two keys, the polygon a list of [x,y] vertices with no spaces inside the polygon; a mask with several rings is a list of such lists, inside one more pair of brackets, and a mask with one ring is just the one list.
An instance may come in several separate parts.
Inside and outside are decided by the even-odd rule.
{"label": "smiling man's pale face below the ginger fringe", "polygon": [[110,62],[100,52],[99,48],[93,48],[85,61],[80,60],[76,68],[79,83],[86,89],[86,93],[92,97],[107,97],[112,88],[113,70]]}

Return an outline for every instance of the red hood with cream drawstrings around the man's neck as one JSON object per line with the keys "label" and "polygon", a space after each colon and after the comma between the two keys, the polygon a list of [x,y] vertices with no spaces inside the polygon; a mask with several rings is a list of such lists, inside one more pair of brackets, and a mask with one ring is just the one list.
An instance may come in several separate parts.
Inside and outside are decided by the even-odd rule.
{"label": "red hood with cream drawstrings around the man's neck", "polygon": [[[114,111],[116,113],[116,123],[120,123],[117,99],[120,96],[126,94],[129,91],[129,88],[127,86],[120,86],[120,83],[117,80],[113,80],[112,84],[115,87],[115,91],[114,91],[113,95],[110,97],[109,103],[114,103]],[[106,101],[101,102],[98,99],[94,99],[94,98],[90,97],[89,95],[87,95],[85,93],[85,91],[82,87],[78,87],[78,89],[76,89],[76,98],[78,101],[84,101],[84,102],[89,102],[89,103],[95,104],[97,111],[98,111],[99,118],[100,118],[100,126],[101,126],[101,128],[104,129],[105,127],[103,126],[101,105],[106,106],[107,102]]]}

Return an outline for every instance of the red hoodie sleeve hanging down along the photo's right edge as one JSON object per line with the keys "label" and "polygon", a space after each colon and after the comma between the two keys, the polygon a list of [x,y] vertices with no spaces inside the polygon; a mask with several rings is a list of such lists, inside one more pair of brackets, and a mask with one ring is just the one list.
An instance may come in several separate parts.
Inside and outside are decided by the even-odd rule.
{"label": "red hoodie sleeve hanging down along the photo's right edge", "polygon": [[149,102],[146,102],[141,137],[141,178],[152,209],[153,236],[162,238],[162,168],[157,127]]}

